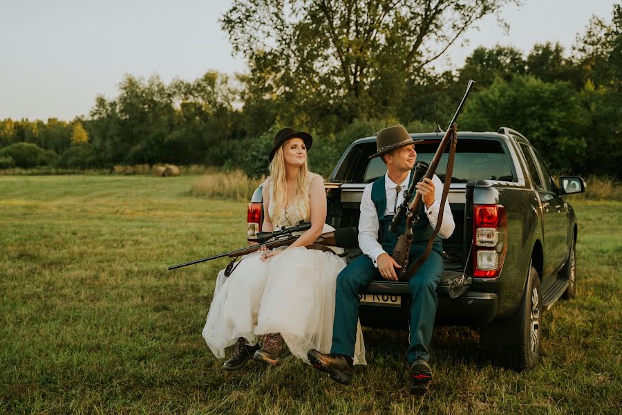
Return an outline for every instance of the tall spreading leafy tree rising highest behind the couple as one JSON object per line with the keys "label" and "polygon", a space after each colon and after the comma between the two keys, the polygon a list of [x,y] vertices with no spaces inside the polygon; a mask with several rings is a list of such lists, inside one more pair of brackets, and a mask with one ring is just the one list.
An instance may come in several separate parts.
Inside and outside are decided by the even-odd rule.
{"label": "tall spreading leafy tree rising highest behind the couple", "polygon": [[221,23],[286,122],[327,131],[395,113],[404,80],[506,3],[235,0]]}

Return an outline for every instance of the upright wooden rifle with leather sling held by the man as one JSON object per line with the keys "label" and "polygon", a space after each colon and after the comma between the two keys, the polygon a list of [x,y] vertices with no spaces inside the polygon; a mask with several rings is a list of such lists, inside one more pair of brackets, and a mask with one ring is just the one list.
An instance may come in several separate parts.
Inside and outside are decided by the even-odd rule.
{"label": "upright wooden rifle with leather sling held by the man", "polygon": [[[389,225],[390,232],[393,232],[393,233],[397,232],[397,230],[399,229],[400,223],[404,219],[404,216],[406,216],[406,229],[404,230],[403,234],[399,235],[399,238],[397,239],[397,244],[395,246],[395,249],[393,250],[393,255],[392,255],[393,259],[395,259],[397,264],[402,266],[402,268],[399,268],[399,272],[397,273],[398,279],[408,279],[409,277],[411,277],[411,275],[417,272],[417,269],[419,269],[420,266],[422,266],[422,264],[428,258],[428,255],[430,255],[432,244],[434,242],[436,235],[438,234],[438,231],[440,230],[440,226],[443,221],[443,212],[445,208],[447,194],[449,193],[449,185],[451,185],[451,176],[453,174],[453,158],[454,158],[453,156],[455,155],[455,146],[456,146],[456,143],[458,142],[458,128],[456,127],[455,122],[456,120],[458,120],[460,111],[462,111],[462,107],[464,107],[464,102],[466,101],[466,97],[469,95],[469,92],[471,91],[471,87],[473,86],[473,84],[475,84],[475,82],[473,82],[473,80],[469,80],[469,84],[466,86],[466,92],[464,93],[464,96],[462,97],[462,101],[460,101],[460,105],[458,105],[458,109],[455,111],[455,114],[451,122],[449,122],[449,127],[447,128],[447,131],[443,139],[438,145],[436,153],[434,154],[434,158],[432,159],[430,165],[427,168],[426,174],[423,177],[423,178],[431,179],[432,176],[434,176],[436,172],[436,167],[438,166],[438,163],[440,162],[440,159],[445,149],[447,148],[447,145],[449,145],[449,158],[447,160],[443,195],[440,201],[440,208],[439,208],[439,213],[437,217],[436,228],[430,238],[430,241],[428,241],[428,246],[426,247],[426,250],[424,251],[422,256],[419,259],[417,259],[417,261],[415,261],[415,263],[410,268],[408,268],[408,255],[410,255],[411,244],[413,243],[413,225],[417,223],[417,221],[419,220],[419,217],[417,216],[416,212],[417,212],[417,208],[419,208],[419,205],[422,199],[422,196],[419,193],[415,194],[415,196],[413,197],[413,194],[415,193],[414,192],[415,185],[417,183],[417,181],[415,181],[415,178],[413,178],[413,183],[411,183],[411,185],[409,186],[409,189],[406,191],[406,194],[404,195],[405,196],[404,202],[402,203],[402,205],[399,206],[399,209],[395,213],[395,216],[393,216],[393,220],[391,221]],[[416,166],[415,166],[415,176],[417,176]],[[407,201],[406,196],[408,196],[408,199],[411,199],[411,200]]]}

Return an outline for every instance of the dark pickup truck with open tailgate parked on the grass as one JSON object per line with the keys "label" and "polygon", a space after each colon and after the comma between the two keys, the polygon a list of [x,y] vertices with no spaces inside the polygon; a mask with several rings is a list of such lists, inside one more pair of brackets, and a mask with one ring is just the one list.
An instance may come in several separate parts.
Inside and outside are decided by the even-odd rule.
{"label": "dark pickup truck with open tailgate parked on the grass", "polygon": [[[412,134],[417,160],[430,162],[442,133]],[[386,173],[375,138],[352,142],[328,182],[326,223],[357,226],[364,187]],[[444,154],[437,176],[444,180]],[[498,365],[522,370],[538,361],[541,314],[560,297],[575,295],[576,216],[564,200],[583,192],[579,177],[563,176],[558,187],[542,158],[522,134],[458,133],[448,202],[455,230],[443,241],[444,275],[437,288],[437,324],[480,331],[480,346]],[[261,187],[248,208],[248,238],[261,230]],[[360,250],[351,249],[346,259]],[[449,296],[449,282],[465,273],[469,289]],[[408,328],[408,284],[379,279],[361,295],[361,324]]]}

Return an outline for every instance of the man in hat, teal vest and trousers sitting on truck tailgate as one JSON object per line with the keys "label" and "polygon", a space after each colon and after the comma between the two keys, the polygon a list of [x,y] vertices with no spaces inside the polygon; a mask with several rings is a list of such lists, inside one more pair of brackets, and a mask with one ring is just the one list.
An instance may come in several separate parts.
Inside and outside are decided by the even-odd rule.
{"label": "man in hat, teal vest and trousers sitting on truck tailgate", "polygon": [[[377,153],[386,164],[386,175],[370,183],[361,199],[359,219],[359,247],[364,255],[356,257],[337,277],[332,348],[330,354],[310,350],[307,356],[312,365],[330,374],[337,382],[348,385],[352,380],[352,356],[354,356],[357,322],[359,318],[359,293],[378,276],[397,281],[399,264],[391,254],[399,234],[404,232],[406,221],[400,224],[396,234],[388,232],[388,225],[395,210],[402,203],[403,191],[413,178],[413,166],[417,158],[415,142],[402,125],[381,129],[376,135]],[[409,262],[419,258],[433,234],[440,209],[443,185],[437,176],[424,178],[417,184],[417,193],[423,203],[417,212],[420,219],[413,225],[413,244]],[[451,236],[455,224],[445,204],[443,223],[438,235]],[[436,286],[443,272],[442,242],[437,236],[428,259],[408,282],[411,293],[410,344],[406,353],[411,394],[424,394],[432,381],[428,365],[428,348],[437,308]]]}

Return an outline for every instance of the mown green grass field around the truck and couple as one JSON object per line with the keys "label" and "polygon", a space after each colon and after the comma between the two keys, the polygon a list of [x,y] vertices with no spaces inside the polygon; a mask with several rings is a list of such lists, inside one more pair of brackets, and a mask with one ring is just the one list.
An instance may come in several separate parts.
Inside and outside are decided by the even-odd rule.
{"label": "mown green grass field around the truck and couple", "polygon": [[352,385],[288,356],[225,373],[201,338],[243,202],[191,196],[196,177],[0,177],[0,412],[619,414],[622,202],[578,214],[578,297],[543,317],[542,357],[492,367],[469,329],[437,327],[435,380],[408,394],[407,334],[365,331]]}

